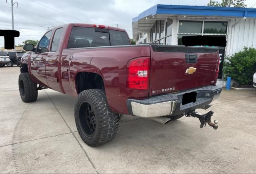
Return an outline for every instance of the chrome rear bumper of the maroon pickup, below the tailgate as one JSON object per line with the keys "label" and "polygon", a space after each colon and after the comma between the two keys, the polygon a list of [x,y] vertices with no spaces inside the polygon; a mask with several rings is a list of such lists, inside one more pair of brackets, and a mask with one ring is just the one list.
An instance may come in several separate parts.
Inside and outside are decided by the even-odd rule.
{"label": "chrome rear bumper of the maroon pickup, below the tailgate", "polygon": [[[179,93],[168,93],[150,97],[149,99],[128,99],[127,107],[130,115],[139,117],[161,117],[167,115],[179,115],[193,109],[204,109],[213,100],[220,96],[222,87],[206,86],[190,89]],[[182,105],[182,97],[185,93],[196,92],[196,102]]]}

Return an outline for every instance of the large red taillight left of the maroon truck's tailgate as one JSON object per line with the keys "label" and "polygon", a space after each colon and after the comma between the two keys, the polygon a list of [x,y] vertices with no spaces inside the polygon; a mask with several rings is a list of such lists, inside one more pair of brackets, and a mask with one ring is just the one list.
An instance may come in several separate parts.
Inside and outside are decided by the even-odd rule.
{"label": "large red taillight left of the maroon truck's tailgate", "polygon": [[126,86],[128,89],[148,89],[150,58],[136,58],[127,63]]}

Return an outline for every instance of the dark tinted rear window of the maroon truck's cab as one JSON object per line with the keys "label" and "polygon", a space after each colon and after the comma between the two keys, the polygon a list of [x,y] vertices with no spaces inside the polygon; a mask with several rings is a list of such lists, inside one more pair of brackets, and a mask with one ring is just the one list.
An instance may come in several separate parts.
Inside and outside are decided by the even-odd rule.
{"label": "dark tinted rear window of the maroon truck's cab", "polygon": [[103,28],[73,27],[68,48],[130,45],[126,32]]}

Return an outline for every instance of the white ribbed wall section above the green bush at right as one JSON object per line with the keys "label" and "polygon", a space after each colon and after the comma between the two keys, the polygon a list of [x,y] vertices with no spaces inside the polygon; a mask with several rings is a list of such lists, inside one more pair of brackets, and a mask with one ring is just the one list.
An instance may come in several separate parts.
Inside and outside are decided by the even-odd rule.
{"label": "white ribbed wall section above the green bush at right", "polygon": [[[256,19],[247,18],[239,22],[241,19],[242,18],[230,20],[226,55],[239,52],[245,46],[256,48]],[[232,27],[236,22],[239,23]]]}

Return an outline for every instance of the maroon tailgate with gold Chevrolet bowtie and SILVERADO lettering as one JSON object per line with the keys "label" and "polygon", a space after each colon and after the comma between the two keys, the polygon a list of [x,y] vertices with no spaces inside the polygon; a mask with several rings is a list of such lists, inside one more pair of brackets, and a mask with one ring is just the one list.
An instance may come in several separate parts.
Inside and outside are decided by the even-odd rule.
{"label": "maroon tailgate with gold Chevrolet bowtie and SILVERADO lettering", "polygon": [[216,47],[151,45],[150,95],[216,83]]}

